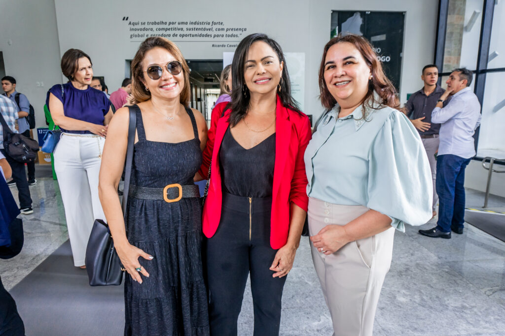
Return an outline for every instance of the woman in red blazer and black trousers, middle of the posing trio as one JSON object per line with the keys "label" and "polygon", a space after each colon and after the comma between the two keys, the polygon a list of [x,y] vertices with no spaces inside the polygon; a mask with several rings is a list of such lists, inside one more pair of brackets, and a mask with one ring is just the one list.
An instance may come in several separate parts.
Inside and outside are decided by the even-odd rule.
{"label": "woman in red blazer and black trousers, middle of the posing trio", "polygon": [[207,176],[212,159],[203,213],[211,334],[237,334],[250,273],[254,333],[277,335],[307,212],[303,157],[311,127],[291,97],[282,49],[268,36],[239,43],[232,79],[232,100],[213,111],[219,119],[199,171]]}

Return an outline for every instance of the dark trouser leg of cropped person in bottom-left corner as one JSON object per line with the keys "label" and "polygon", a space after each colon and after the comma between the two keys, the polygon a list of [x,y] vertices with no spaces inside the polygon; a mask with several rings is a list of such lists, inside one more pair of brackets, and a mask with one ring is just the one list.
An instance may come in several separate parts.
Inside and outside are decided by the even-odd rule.
{"label": "dark trouser leg of cropped person in bottom-left corner", "polygon": [[23,336],[25,326],[18,314],[16,302],[4,288],[0,278],[0,335]]}

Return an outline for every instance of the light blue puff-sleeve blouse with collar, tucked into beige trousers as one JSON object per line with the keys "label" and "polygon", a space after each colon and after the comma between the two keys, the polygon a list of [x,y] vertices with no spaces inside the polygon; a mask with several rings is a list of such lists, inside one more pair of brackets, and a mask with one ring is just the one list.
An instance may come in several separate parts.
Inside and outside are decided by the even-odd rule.
{"label": "light blue puff-sleeve blouse with collar, tucked into beige trousers", "polygon": [[405,223],[425,224],[433,187],[418,131],[393,108],[365,105],[338,118],[337,104],[322,118],[305,151],[307,194],[366,206],[390,217],[399,231]]}

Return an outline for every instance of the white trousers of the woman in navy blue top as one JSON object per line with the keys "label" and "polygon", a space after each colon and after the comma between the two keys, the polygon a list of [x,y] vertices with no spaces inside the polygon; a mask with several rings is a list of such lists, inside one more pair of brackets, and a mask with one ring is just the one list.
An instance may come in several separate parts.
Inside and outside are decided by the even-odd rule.
{"label": "white trousers of the woman in navy blue top", "polygon": [[84,265],[94,220],[105,220],[98,198],[104,143],[104,138],[95,135],[63,133],[53,153],[75,266]]}

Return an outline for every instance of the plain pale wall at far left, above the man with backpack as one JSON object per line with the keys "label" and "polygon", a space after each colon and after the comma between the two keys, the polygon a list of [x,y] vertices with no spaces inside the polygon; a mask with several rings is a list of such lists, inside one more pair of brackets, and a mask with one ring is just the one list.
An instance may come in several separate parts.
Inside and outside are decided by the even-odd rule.
{"label": "plain pale wall at far left, above the man with backpack", "polygon": [[16,79],[16,90],[35,108],[37,127],[45,126],[47,90],[62,81],[54,0],[0,0],[0,16],[6,75]]}

